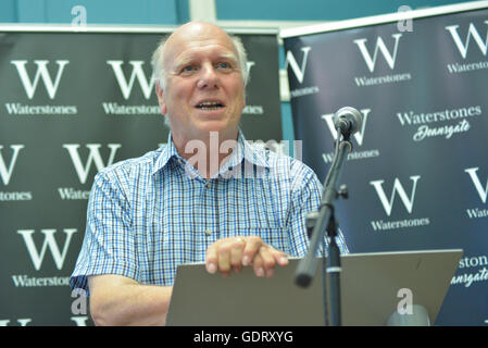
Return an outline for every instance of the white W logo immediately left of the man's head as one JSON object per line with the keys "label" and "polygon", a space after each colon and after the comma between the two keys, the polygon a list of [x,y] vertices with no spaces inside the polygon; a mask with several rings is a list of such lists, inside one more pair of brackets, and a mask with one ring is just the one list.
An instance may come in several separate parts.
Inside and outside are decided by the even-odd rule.
{"label": "white W logo immediately left of the man's head", "polygon": [[149,99],[151,97],[151,92],[154,88],[154,77],[151,74],[151,78],[148,82],[148,78],[142,70],[142,65],[145,64],[143,61],[129,61],[129,64],[133,65],[133,72],[130,73],[128,83],[125,78],[124,72],[122,71],[122,64],[124,64],[123,61],[107,61],[107,64],[112,66],[124,99],[128,99],[130,97],[136,78],[139,82],[145,98]]}

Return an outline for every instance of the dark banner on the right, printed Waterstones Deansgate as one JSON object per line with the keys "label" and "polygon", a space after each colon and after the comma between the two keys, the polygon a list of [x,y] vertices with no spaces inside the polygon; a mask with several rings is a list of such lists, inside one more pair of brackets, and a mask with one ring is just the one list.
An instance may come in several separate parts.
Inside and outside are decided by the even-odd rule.
{"label": "dark banner on the right, printed Waterstones Deansgate", "polygon": [[336,206],[351,252],[464,250],[436,325],[488,324],[488,2],[468,5],[281,33],[295,137],[322,181],[334,113],[363,114]]}

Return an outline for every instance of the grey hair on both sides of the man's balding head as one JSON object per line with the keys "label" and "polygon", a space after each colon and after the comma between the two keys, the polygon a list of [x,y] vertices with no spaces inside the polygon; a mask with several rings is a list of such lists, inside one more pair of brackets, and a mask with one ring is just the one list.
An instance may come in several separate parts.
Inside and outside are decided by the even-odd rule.
{"label": "grey hair on both sides of the man's balding head", "polygon": [[[166,71],[164,66],[164,47],[166,45],[167,39],[171,35],[166,35],[162,38],[158,48],[152,53],[151,64],[152,64],[152,74],[154,76],[155,82],[160,85],[162,89],[166,86]],[[230,40],[233,40],[234,47],[237,51],[237,58],[239,60],[240,73],[242,74],[242,79],[245,82],[245,86],[248,84],[248,55],[246,53],[246,49],[242,45],[242,41],[239,37],[235,35],[229,35]]]}

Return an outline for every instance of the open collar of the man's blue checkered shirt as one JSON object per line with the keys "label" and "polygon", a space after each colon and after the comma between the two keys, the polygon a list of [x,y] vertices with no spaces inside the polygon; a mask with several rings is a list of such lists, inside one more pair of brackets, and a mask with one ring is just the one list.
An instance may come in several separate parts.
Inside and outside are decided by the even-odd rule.
{"label": "open collar of the man's blue checkered shirt", "polygon": [[[240,129],[238,133],[237,146],[235,150],[236,151],[233,152],[232,158],[227,162],[227,164],[223,169],[221,169],[221,172],[240,165],[242,161],[248,161],[258,166],[270,167],[270,162],[266,159],[265,150],[251,145],[248,140],[246,140],[246,137]],[[154,162],[152,174],[155,174],[158,171],[166,166],[172,158],[176,158],[182,163],[186,163],[186,160],[184,160],[176,150],[176,147],[173,144],[172,139],[172,133],[170,132],[170,134],[167,135],[167,144],[166,146],[162,147],[161,153]]]}

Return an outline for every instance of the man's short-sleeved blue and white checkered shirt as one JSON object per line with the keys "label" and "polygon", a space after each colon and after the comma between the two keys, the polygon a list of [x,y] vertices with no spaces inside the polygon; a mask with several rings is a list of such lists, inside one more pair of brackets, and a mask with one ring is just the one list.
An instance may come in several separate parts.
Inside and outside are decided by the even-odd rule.
{"label": "man's short-sleeved blue and white checkered shirt", "polygon": [[[204,262],[220,238],[260,236],[292,257],[308,250],[305,214],[322,185],[290,157],[258,148],[239,132],[228,164],[211,179],[167,145],[100,171],[70,284],[88,291],[87,276],[117,274],[140,284],[173,285],[182,263]],[[340,234],[338,245],[347,253]]]}

